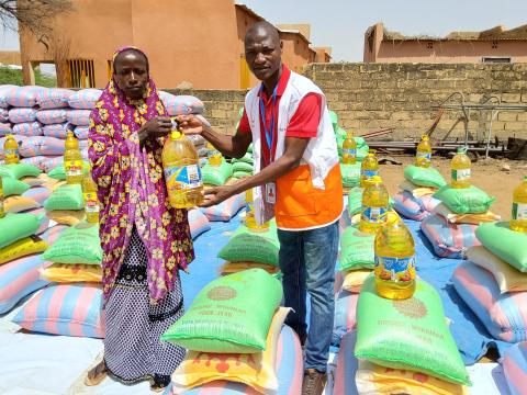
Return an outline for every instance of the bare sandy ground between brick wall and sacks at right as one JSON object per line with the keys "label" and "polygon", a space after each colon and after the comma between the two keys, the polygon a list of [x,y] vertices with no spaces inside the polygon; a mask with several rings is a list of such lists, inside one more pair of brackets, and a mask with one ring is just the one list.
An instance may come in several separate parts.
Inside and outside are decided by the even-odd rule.
{"label": "bare sandy ground between brick wall and sacks at right", "polygon": [[[380,155],[380,158],[385,157]],[[392,156],[392,158],[402,161],[403,165],[381,165],[380,170],[391,195],[399,191],[397,185],[403,180],[404,167],[414,160],[411,156]],[[433,166],[441,172],[447,181],[450,180],[450,160],[434,157]],[[502,170],[504,166],[508,166],[511,170]],[[496,198],[491,211],[500,214],[505,221],[511,218],[513,190],[522,182],[524,176],[527,176],[527,161],[480,159],[472,163],[472,183],[489,195]]]}

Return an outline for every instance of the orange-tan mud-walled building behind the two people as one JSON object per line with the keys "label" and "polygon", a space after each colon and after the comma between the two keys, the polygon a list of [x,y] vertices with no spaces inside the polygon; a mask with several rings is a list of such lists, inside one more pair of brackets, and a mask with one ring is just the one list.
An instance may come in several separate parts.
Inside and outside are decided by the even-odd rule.
{"label": "orange-tan mud-walled building behind the two people", "polygon": [[[244,36],[264,20],[233,0],[72,0],[74,11],[54,21],[46,49],[20,29],[24,83],[33,67],[55,63],[57,80],[67,87],[106,84],[115,48],[134,45],[150,59],[160,88],[183,81],[198,89],[246,89],[255,80],[244,57]],[[284,61],[301,71],[316,52],[300,31],[280,32]],[[58,64],[61,67],[58,67]],[[189,86],[189,83],[187,83]]]}

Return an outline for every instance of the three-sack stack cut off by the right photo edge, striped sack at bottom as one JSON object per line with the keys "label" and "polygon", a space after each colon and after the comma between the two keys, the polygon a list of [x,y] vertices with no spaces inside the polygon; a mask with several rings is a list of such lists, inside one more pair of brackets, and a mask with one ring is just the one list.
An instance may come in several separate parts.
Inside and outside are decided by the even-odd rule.
{"label": "three-sack stack cut off by the right photo edge, striped sack at bottom", "polygon": [[482,246],[468,250],[468,261],[453,272],[453,286],[494,338],[525,341],[527,234],[501,222],[482,224],[475,236]]}

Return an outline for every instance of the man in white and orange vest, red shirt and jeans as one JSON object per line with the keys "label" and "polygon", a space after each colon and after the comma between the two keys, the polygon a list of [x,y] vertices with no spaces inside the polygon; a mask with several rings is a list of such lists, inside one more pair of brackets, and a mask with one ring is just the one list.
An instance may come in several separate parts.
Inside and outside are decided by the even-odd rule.
{"label": "man in white and orange vest, red shirt and jeans", "polygon": [[[255,174],[205,192],[204,206],[254,189],[255,217],[277,219],[287,319],[305,342],[302,393],[319,395],[334,324],[335,262],[343,187],[337,146],[324,93],[281,61],[279,32],[268,22],[245,36],[245,55],[261,81],[245,99],[237,133],[214,132],[193,115],[177,117],[187,134],[201,134],[222,154],[242,158],[253,143]],[[310,330],[306,293],[311,296]]]}

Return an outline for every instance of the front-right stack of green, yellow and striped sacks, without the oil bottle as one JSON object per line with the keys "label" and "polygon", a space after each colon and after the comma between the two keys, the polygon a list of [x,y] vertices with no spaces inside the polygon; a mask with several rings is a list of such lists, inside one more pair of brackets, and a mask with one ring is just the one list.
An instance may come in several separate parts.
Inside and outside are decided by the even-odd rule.
{"label": "front-right stack of green, yellow and striped sacks, without the oil bottle", "polygon": [[359,295],[357,334],[343,340],[334,392],[468,394],[469,374],[437,291],[417,280],[411,298],[393,301],[374,287],[370,275]]}

